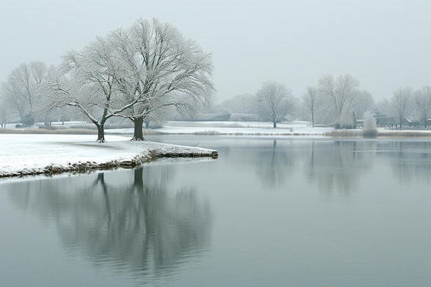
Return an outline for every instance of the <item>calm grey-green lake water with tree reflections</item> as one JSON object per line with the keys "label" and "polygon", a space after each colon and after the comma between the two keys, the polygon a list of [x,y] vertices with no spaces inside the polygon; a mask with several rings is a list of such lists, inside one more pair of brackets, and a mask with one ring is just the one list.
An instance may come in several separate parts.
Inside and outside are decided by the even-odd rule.
{"label": "calm grey-green lake water with tree reflections", "polygon": [[0,182],[0,286],[431,286],[431,142],[150,139],[219,158]]}

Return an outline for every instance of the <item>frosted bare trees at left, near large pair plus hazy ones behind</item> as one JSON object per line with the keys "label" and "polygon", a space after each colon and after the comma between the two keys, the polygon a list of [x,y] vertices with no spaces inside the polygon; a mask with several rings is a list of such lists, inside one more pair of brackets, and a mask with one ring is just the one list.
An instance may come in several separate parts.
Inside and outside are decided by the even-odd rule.
{"label": "frosted bare trees at left, near large pair plus hazy ones behind", "polygon": [[35,110],[49,117],[72,107],[96,125],[98,142],[105,141],[109,118],[132,120],[133,139],[143,140],[145,118],[164,119],[172,108],[193,114],[197,103],[209,103],[214,90],[211,54],[157,19],[140,19],[129,28],[98,36],[62,59],[58,67],[45,67],[41,74],[30,64],[31,83],[12,72],[1,87],[2,98],[19,111],[23,122],[24,114]]}

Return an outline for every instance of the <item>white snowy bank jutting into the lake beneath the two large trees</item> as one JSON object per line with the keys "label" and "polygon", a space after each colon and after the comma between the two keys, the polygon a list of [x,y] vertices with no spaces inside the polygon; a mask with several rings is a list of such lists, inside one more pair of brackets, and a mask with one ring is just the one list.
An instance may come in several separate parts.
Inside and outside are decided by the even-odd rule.
{"label": "white snowy bank jutting into the lake beneath the two large trees", "polygon": [[217,158],[217,151],[157,142],[132,142],[123,136],[0,134],[0,178],[96,169],[136,167],[157,158]]}

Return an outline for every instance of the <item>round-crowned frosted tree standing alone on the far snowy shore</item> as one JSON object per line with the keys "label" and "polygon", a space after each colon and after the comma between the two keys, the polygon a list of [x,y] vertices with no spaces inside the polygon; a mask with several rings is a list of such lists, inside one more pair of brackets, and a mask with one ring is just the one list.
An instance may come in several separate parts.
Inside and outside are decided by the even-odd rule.
{"label": "round-crowned frosted tree standing alone on the far snowy shore", "polygon": [[285,85],[273,81],[266,82],[256,93],[255,110],[264,121],[277,123],[286,120],[286,116],[293,109],[291,90]]}

